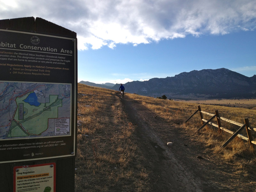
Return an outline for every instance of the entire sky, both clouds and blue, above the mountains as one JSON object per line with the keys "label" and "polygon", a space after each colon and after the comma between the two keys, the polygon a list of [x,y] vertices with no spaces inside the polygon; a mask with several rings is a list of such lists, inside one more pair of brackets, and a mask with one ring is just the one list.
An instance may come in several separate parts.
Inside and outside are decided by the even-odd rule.
{"label": "entire sky, both clouds and blue, above the mountains", "polygon": [[255,0],[0,0],[0,20],[20,17],[76,32],[78,82],[217,68],[256,75]]}

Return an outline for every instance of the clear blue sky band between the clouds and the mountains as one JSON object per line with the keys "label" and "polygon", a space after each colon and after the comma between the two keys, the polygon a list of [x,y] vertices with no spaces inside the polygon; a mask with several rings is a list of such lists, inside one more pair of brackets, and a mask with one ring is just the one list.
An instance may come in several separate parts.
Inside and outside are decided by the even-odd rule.
{"label": "clear blue sky band between the clouds and the mountains", "polygon": [[[256,75],[256,32],[186,36],[158,43],[118,44],[114,49],[78,52],[78,77],[104,83],[148,80],[201,69],[228,68],[245,76]],[[81,65],[84,63],[84,65]],[[87,64],[86,64],[87,63]],[[123,81],[125,82],[125,80]]]}

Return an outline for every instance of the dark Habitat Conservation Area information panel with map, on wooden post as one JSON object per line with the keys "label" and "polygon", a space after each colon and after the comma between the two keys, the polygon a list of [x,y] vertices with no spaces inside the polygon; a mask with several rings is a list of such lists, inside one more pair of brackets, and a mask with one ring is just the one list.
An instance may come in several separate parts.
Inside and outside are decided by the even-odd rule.
{"label": "dark Habitat Conservation Area information panel with map, on wooden post", "polygon": [[76,39],[0,29],[0,163],[75,155]]}

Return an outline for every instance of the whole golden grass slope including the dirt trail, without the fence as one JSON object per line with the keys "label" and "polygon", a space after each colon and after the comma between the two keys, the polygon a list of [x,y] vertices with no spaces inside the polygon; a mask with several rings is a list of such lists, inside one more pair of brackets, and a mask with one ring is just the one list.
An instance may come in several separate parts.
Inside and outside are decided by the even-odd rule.
{"label": "whole golden grass slope including the dirt trail, without the fence", "polygon": [[[210,125],[196,133],[199,114],[184,124],[197,106],[78,84],[75,191],[256,191],[254,150],[240,138],[221,148],[231,135]],[[256,110],[200,106],[256,127]]]}

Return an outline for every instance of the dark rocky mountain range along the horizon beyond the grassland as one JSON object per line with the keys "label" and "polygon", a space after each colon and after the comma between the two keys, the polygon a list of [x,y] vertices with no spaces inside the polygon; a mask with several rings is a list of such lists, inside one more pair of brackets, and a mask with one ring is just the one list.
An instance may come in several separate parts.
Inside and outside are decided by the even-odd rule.
{"label": "dark rocky mountain range along the horizon beyond the grassland", "polygon": [[[120,86],[120,84],[114,86],[108,84],[110,86],[106,87],[105,84],[89,83],[87,85],[104,86],[104,88],[113,90],[118,90]],[[256,97],[256,75],[247,77],[226,68],[193,70],[174,77],[132,81],[123,85],[125,92],[151,97],[166,95],[168,99],[249,99]]]}

